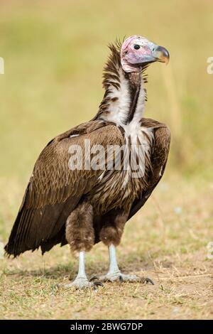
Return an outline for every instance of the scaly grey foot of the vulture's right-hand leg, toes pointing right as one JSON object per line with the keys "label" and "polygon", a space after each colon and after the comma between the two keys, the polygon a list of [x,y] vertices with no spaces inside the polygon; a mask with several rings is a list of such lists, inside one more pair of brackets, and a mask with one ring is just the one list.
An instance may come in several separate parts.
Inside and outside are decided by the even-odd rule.
{"label": "scaly grey foot of the vulture's right-hand leg, toes pointing right", "polygon": [[89,281],[94,281],[98,279],[98,281],[102,282],[139,282],[143,284],[151,283],[154,285],[153,281],[148,277],[140,277],[136,275],[127,275],[122,274],[121,271],[116,271],[115,273],[107,273],[107,275],[102,276],[93,276]]}

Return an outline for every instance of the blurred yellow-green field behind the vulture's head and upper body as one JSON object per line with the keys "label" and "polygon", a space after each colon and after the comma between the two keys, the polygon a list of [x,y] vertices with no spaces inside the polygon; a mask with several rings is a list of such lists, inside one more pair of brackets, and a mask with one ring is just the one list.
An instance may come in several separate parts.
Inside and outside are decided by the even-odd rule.
{"label": "blurred yellow-green field behind the vulture's head and upper body", "polygon": [[1,0],[2,193],[23,191],[45,144],[96,114],[107,44],[136,33],[170,51],[148,69],[145,114],[170,126],[167,173],[212,177],[212,0]]}

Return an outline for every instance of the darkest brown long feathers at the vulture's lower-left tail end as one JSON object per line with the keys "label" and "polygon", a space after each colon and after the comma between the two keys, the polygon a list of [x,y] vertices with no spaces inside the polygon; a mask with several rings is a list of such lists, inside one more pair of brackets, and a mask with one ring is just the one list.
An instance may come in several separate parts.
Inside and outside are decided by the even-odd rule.
{"label": "darkest brown long feathers at the vulture's lower-left tail end", "polygon": [[68,198],[64,203],[45,205],[43,208],[26,208],[21,205],[9,242],[4,247],[6,254],[17,257],[39,247],[47,252],[55,244],[66,244],[65,223],[79,198]]}

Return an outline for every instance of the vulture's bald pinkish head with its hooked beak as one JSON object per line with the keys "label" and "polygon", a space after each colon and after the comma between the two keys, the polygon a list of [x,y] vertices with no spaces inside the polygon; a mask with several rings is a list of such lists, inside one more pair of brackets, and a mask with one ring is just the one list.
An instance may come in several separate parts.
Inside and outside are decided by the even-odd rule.
{"label": "vulture's bald pinkish head with its hooked beak", "polygon": [[125,72],[140,72],[143,65],[159,61],[168,63],[170,55],[163,46],[134,35],[121,45],[121,65]]}

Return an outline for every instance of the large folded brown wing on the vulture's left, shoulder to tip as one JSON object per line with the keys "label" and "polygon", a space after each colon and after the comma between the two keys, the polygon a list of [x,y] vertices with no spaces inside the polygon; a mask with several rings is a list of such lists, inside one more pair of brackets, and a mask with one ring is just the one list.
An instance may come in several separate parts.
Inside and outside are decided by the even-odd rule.
{"label": "large folded brown wing on the vulture's left, shoulder to tip", "polygon": [[[70,137],[71,136],[71,137]],[[121,131],[103,121],[91,121],[55,137],[43,149],[35,163],[26,188],[21,208],[13,225],[9,242],[5,247],[15,257],[29,249],[46,252],[65,240],[65,222],[70,212],[79,203],[82,195],[97,184],[101,170],[73,170],[68,166],[71,145],[82,147],[84,139],[91,146],[122,144]],[[84,161],[84,159],[83,159]]]}

